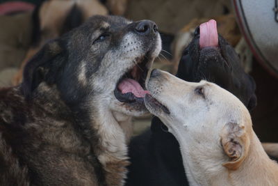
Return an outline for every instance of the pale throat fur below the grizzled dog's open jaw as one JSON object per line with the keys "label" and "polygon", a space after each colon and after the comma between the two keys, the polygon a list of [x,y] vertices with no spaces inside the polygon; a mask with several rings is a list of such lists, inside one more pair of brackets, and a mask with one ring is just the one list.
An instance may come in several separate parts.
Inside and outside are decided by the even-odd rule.
{"label": "pale throat fur below the grizzled dog's open jaw", "polygon": [[93,123],[99,138],[97,156],[104,167],[107,185],[124,185],[127,157],[127,142],[132,134],[131,116],[112,111],[105,103],[92,110]]}

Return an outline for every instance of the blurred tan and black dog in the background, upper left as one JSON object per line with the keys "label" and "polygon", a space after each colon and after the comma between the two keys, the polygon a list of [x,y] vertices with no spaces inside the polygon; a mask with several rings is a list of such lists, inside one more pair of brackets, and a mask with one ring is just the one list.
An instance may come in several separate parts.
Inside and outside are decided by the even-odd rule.
{"label": "blurred tan and black dog in the background, upper left", "polygon": [[13,84],[22,82],[24,67],[49,40],[62,36],[80,26],[92,15],[108,15],[108,10],[97,0],[42,1],[32,14],[31,46],[26,53],[22,65],[13,79]]}

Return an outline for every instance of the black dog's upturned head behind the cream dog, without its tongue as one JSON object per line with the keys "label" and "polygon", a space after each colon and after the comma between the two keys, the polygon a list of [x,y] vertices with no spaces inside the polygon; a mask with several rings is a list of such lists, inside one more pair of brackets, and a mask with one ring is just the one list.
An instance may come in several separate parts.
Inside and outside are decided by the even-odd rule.
{"label": "black dog's upturned head behind the cream dog, without its tongue", "polygon": [[200,47],[199,27],[194,35],[190,45],[183,51],[177,77],[188,82],[205,79],[218,84],[236,95],[249,110],[254,109],[256,84],[254,79],[244,72],[234,48],[220,35],[216,36],[218,46]]}

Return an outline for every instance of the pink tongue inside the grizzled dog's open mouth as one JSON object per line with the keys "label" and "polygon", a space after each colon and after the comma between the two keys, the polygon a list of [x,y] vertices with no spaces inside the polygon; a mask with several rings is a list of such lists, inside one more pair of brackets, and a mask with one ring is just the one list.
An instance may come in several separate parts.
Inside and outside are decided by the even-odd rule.
{"label": "pink tongue inside the grizzled dog's open mouth", "polygon": [[118,88],[122,93],[133,93],[137,98],[144,98],[145,94],[149,93],[149,91],[145,91],[138,82],[129,78],[122,80]]}

